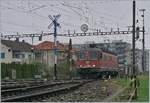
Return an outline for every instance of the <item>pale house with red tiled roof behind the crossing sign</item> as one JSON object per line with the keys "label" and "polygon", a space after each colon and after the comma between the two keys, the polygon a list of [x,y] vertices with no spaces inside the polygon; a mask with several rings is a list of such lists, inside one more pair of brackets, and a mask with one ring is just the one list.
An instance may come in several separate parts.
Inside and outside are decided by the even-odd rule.
{"label": "pale house with red tiled roof behind the crossing sign", "polygon": [[[66,58],[65,45],[57,42],[57,59],[58,63]],[[34,46],[35,61],[47,64],[54,64],[54,42],[44,41]]]}

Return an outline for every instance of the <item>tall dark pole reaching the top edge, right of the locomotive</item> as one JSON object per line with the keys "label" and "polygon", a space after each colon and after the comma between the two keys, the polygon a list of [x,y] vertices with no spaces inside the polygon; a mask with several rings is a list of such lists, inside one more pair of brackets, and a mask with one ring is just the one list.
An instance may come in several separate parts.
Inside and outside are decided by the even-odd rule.
{"label": "tall dark pole reaching the top edge, right of the locomotive", "polygon": [[136,9],[136,4],[135,4],[135,1],[133,1],[133,35],[132,35],[132,56],[133,56],[133,75],[136,74],[136,71],[135,71],[135,20],[136,20],[136,17],[135,17],[135,11]]}

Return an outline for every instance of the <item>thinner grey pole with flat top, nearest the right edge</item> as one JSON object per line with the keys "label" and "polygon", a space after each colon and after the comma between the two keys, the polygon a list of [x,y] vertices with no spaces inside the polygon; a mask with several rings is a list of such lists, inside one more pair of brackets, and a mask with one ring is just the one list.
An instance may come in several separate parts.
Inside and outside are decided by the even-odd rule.
{"label": "thinner grey pole with flat top, nearest the right edge", "polygon": [[142,39],[142,44],[143,44],[143,53],[142,53],[142,70],[144,72],[145,70],[145,63],[144,63],[144,56],[145,56],[145,25],[144,25],[144,11],[145,9],[140,9],[139,11],[143,12],[143,14],[141,15],[143,18],[143,39]]}

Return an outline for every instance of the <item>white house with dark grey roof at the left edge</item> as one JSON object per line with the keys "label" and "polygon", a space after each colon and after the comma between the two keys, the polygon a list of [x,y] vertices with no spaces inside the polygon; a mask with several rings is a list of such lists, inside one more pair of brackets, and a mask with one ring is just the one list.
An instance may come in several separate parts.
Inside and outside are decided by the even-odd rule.
{"label": "white house with dark grey roof at the left edge", "polygon": [[32,46],[24,41],[1,40],[1,63],[30,63]]}

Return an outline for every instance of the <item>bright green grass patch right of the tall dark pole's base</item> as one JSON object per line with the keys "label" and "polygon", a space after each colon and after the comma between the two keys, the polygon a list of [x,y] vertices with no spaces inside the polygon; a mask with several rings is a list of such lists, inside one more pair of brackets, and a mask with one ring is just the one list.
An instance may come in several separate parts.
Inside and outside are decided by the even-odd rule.
{"label": "bright green grass patch right of the tall dark pole's base", "polygon": [[140,87],[138,88],[138,102],[148,102],[149,101],[149,77],[139,76]]}

